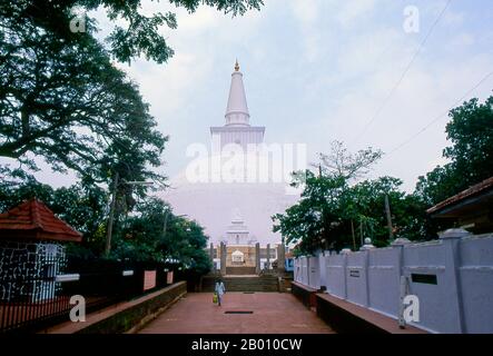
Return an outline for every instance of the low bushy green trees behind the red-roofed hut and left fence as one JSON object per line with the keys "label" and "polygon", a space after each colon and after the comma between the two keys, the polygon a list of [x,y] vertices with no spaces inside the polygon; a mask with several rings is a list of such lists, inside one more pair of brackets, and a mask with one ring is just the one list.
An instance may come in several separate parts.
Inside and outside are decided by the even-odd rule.
{"label": "low bushy green trees behind the red-roofed hut and left fence", "polygon": [[[81,184],[53,189],[21,170],[7,174],[10,179],[0,180],[0,211],[36,197],[83,235],[81,245],[69,246],[68,253],[71,256],[102,255],[108,221],[108,192]],[[2,171],[0,177],[3,177]],[[175,266],[195,273],[206,273],[210,268],[205,251],[208,237],[203,227],[196,221],[176,216],[162,200],[152,197],[140,199],[131,215],[117,215],[115,227],[114,248],[109,256],[111,259],[172,260]]]}

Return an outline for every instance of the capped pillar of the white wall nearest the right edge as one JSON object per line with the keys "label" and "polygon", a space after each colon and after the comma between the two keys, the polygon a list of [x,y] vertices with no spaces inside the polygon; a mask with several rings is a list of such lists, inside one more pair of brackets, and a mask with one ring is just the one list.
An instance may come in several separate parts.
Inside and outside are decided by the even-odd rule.
{"label": "capped pillar of the white wall nearest the right edge", "polygon": [[463,237],[470,236],[471,233],[464,229],[448,229],[440,234],[440,239],[445,248],[445,270],[451,268],[452,285],[450,286],[450,295],[456,296],[456,313],[459,316],[459,333],[466,333],[466,325],[464,319],[464,304],[462,299],[461,276],[459,267],[461,261],[459,243]]}

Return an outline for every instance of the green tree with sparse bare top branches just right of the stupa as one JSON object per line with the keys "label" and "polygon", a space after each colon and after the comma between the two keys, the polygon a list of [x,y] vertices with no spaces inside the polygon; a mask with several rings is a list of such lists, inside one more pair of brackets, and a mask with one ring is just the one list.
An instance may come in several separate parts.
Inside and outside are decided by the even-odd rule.
{"label": "green tree with sparse bare top branches just right of the stupa", "polygon": [[274,231],[280,231],[288,244],[297,244],[299,253],[356,248],[355,226],[361,235],[378,241],[385,234],[375,230],[381,221],[375,208],[383,206],[385,194],[394,192],[392,198],[402,199],[395,191],[401,185],[397,179],[351,185],[377,161],[379,150],[367,148],[351,154],[339,141],[331,147],[329,154],[321,155],[318,175],[312,170],[295,174],[294,185],[303,185],[298,204],[273,217]]}

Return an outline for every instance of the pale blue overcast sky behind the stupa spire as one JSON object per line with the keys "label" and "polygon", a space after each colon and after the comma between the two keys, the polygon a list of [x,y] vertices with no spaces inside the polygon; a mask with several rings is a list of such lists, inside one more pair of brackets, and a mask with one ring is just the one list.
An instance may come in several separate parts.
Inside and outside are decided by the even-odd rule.
{"label": "pale blue overcast sky behind the stupa spire", "polygon": [[[161,172],[183,170],[187,146],[208,144],[209,127],[224,123],[236,58],[250,122],[266,126],[267,142],[307,144],[309,161],[335,139],[351,150],[391,152],[493,71],[491,0],[452,0],[438,22],[445,0],[265,2],[259,12],[234,19],[205,7],[194,14],[175,9],[178,29],[164,29],[175,57],[166,65],[120,66],[139,83],[159,130],[170,136]],[[149,3],[149,12],[172,10],[166,1]],[[420,10],[417,33],[403,29],[408,6]],[[101,13],[98,19],[105,33],[108,22]],[[467,98],[484,100],[492,89],[493,76]],[[398,177],[412,190],[420,175],[443,162],[446,122],[442,116],[385,156],[372,177]],[[47,171],[38,176],[56,186],[71,181]]]}

